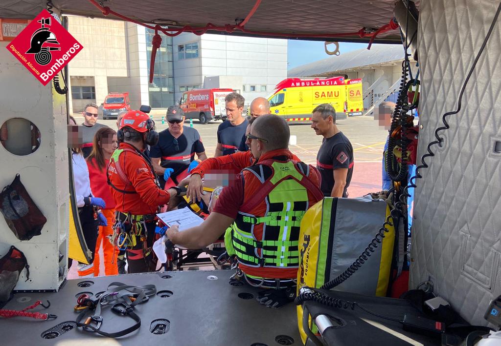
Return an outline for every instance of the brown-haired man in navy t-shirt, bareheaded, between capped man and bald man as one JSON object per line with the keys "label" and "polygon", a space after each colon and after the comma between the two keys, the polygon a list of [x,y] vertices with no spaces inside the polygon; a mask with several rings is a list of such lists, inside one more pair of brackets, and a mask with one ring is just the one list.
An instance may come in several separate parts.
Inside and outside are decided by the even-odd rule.
{"label": "brown-haired man in navy t-shirt, bareheaded, between capped man and bald man", "polygon": [[214,157],[232,154],[238,149],[240,140],[247,128],[247,119],[242,116],[242,95],[232,92],[224,98],[226,102],[226,116],[222,124],[217,127],[217,145]]}

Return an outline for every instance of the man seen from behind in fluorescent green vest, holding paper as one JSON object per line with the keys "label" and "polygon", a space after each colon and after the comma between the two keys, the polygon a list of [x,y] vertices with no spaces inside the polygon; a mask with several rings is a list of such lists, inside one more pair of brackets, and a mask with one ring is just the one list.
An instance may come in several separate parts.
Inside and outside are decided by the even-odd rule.
{"label": "man seen from behind in fluorescent green vest, holding paper", "polygon": [[269,294],[273,290],[267,289],[258,299],[271,307],[288,301],[284,289],[294,291],[301,219],[323,198],[319,172],[293,159],[287,149],[289,137],[284,118],[258,117],[247,134],[257,163],[244,168],[222,189],[212,212],[199,226],[179,232],[174,225],[166,232],[174,244],[199,249],[231,227],[225,246],[238,259],[237,276],[253,285],[277,289],[273,298]]}

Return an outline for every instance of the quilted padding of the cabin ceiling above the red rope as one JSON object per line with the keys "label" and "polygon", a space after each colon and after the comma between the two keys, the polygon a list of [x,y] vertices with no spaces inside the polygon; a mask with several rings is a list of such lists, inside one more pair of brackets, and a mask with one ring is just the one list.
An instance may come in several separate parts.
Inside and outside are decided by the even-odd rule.
{"label": "quilted padding of the cabin ceiling above the red rope", "polygon": [[[52,0],[54,6],[67,14],[103,16],[88,0]],[[255,0],[98,0],[112,10],[142,22],[163,19],[205,26],[235,24],[243,19]],[[263,0],[245,27],[255,31],[288,33],[357,32],[362,27],[377,29],[393,17],[395,0]],[[46,0],[1,0],[0,17],[33,18],[46,5]],[[419,1],[418,1],[419,6]],[[117,19],[113,15],[111,19]],[[218,33],[218,32],[213,32]],[[346,38],[341,38],[346,39]],[[368,41],[359,35],[351,40]],[[378,35],[376,42],[400,42],[397,30]]]}

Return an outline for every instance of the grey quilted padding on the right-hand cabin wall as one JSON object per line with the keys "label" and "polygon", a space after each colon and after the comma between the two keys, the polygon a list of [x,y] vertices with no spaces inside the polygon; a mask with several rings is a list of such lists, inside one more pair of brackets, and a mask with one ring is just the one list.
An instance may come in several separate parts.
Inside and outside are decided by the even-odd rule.
{"label": "grey quilted padding on the right-hand cabin wall", "polygon": [[[499,1],[423,0],[419,156],[455,110],[457,95]],[[501,294],[501,18],[494,27],[462,100],[447,118],[445,141],[433,147],[416,189],[411,287],[429,277],[435,293],[474,324]]]}

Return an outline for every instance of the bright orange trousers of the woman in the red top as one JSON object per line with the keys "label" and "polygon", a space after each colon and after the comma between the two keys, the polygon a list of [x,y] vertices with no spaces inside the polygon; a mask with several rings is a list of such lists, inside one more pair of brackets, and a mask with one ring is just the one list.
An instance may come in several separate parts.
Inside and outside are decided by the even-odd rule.
{"label": "bright orange trousers of the woman in the red top", "polygon": [[[99,226],[99,235],[96,241],[96,252],[94,255],[94,276],[99,276],[99,248],[103,245],[104,273],[105,275],[118,275],[118,248],[113,246],[107,235],[113,234],[113,223],[115,222],[114,209],[102,209],[103,215],[108,220],[107,226]],[[113,262],[112,262],[113,261]]]}

